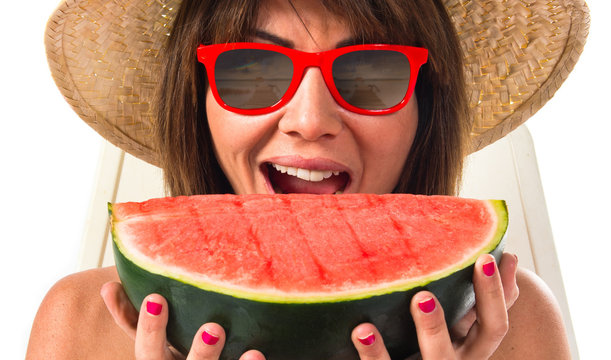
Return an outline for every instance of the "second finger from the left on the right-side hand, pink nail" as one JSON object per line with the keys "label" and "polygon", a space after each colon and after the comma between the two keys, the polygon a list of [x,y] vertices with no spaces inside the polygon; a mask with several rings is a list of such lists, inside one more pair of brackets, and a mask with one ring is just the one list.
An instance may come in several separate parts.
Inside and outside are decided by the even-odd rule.
{"label": "second finger from the left on the right-side hand, pink nail", "polygon": [[450,340],[443,309],[435,296],[428,291],[417,293],[412,298],[410,310],[416,324],[422,358],[454,358],[454,347]]}

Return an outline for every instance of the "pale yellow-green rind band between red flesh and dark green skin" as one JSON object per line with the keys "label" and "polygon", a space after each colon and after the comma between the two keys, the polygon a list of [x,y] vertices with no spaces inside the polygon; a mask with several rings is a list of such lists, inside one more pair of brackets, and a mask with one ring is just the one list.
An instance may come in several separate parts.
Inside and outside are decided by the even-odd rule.
{"label": "pale yellow-green rind band between red flesh and dark green skin", "polygon": [[148,272],[161,275],[167,278],[174,279],[176,281],[180,281],[185,284],[189,284],[191,286],[198,287],[202,290],[211,291],[215,293],[221,293],[225,295],[229,295],[236,298],[243,298],[254,301],[264,301],[264,302],[276,302],[276,303],[320,303],[320,302],[334,302],[334,301],[346,301],[346,300],[358,300],[365,299],[372,296],[379,296],[384,294],[389,294],[397,291],[406,291],[415,287],[422,287],[431,282],[439,280],[441,278],[446,277],[450,273],[454,273],[458,270],[464,269],[469,265],[475,263],[477,257],[484,253],[491,252],[497,245],[501,242],[505,231],[508,225],[508,216],[507,216],[507,206],[504,200],[485,200],[488,205],[491,207],[492,211],[496,213],[497,219],[497,227],[496,232],[493,236],[490,237],[487,245],[477,253],[474,253],[470,258],[465,259],[462,263],[456,264],[455,266],[448,267],[443,269],[438,273],[429,274],[429,276],[410,281],[397,281],[395,283],[385,283],[385,284],[376,284],[375,287],[369,289],[357,289],[355,292],[343,292],[343,293],[334,293],[334,294],[287,294],[287,293],[268,293],[264,290],[261,292],[255,291],[247,291],[242,289],[228,288],[217,286],[215,284],[198,281],[196,279],[189,278],[188,276],[176,274],[171,271],[164,269],[163,267],[158,266],[152,261],[143,261],[141,259],[135,259],[133,255],[130,255],[129,251],[121,242],[120,237],[117,235],[115,231],[114,224],[118,223],[120,220],[114,218],[114,214],[112,211],[112,204],[108,204],[108,210],[112,217],[112,237],[113,242],[118,247],[118,250],[121,252],[122,256],[128,258],[131,262],[136,264],[137,266],[147,269]]}

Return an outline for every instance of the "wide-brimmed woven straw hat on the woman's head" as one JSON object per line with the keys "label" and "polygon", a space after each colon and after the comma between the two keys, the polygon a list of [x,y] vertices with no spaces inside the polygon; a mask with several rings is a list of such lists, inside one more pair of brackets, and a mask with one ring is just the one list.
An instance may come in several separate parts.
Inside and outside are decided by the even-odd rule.
{"label": "wide-brimmed woven straw hat on the woman's head", "polygon": [[[589,28],[584,0],[443,0],[465,54],[472,151],[539,110],[573,69]],[[157,164],[159,53],[180,0],[63,0],[49,19],[51,73],[77,114],[111,143]]]}

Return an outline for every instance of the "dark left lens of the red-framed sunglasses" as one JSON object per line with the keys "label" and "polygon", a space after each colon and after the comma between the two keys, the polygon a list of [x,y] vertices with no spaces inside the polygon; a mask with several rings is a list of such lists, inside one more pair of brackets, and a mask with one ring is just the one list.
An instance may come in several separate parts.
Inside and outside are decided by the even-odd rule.
{"label": "dark left lens of the red-framed sunglasses", "polygon": [[259,109],[274,105],[286,93],[293,78],[293,63],[275,51],[235,49],[219,55],[214,76],[225,104]]}

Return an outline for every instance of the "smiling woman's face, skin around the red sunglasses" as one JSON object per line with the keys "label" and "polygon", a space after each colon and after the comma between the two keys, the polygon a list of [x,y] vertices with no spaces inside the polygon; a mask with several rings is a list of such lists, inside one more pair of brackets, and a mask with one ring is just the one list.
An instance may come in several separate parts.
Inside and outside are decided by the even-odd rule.
{"label": "smiling woman's face, skin around the red sunglasses", "polygon": [[[301,20],[288,1],[264,1],[257,30],[272,36],[251,41],[277,38],[317,52],[351,39],[320,2],[293,4]],[[416,133],[416,103],[414,95],[389,115],[352,113],[335,102],[318,68],[306,69],[291,101],[269,114],[236,114],[221,108],[210,90],[206,97],[216,156],[237,194],[391,192]]]}

